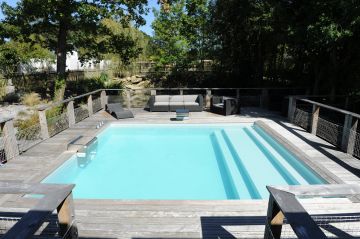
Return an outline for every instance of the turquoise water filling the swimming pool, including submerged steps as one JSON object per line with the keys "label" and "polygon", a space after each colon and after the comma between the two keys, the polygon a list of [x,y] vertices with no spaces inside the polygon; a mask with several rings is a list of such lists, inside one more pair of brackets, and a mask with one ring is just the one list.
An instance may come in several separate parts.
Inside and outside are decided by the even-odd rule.
{"label": "turquoise water filling the swimming pool, including submerged steps", "polygon": [[106,128],[44,183],[74,183],[75,198],[267,198],[266,185],[325,183],[261,128],[117,125]]}

